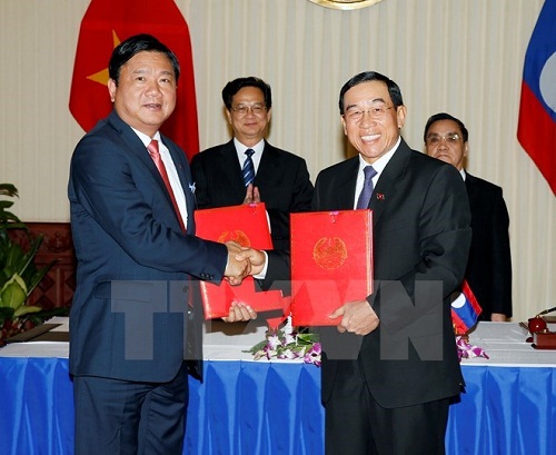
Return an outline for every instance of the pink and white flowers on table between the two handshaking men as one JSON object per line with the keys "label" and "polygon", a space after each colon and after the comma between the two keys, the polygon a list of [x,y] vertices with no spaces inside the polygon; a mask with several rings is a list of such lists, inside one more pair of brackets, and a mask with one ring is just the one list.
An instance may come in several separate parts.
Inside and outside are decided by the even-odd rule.
{"label": "pink and white flowers on table between the two handshaking men", "polygon": [[266,339],[256,344],[247,353],[254,355],[255,360],[272,359],[302,359],[305,364],[320,366],[321,348],[318,334],[307,329],[296,330],[288,323],[281,329],[268,330]]}

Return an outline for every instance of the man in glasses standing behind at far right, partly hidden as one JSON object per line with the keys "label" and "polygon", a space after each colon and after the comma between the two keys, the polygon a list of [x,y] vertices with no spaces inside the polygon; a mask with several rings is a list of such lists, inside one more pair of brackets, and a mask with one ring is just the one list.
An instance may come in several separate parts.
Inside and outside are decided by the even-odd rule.
{"label": "man in glasses standing behind at far right, partly hidden", "polygon": [[468,137],[464,122],[449,113],[436,113],[425,126],[427,155],[459,170],[467,188],[473,237],[465,278],[483,308],[479,319],[504,322],[512,317],[509,215],[502,188],[465,170]]}

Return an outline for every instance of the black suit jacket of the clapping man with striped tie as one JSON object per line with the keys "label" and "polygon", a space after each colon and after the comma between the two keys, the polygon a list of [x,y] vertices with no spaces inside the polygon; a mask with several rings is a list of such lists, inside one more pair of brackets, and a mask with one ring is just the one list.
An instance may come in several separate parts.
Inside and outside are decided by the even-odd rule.
{"label": "black suit jacket of the clapping man with striped tie", "polygon": [[[196,155],[191,172],[199,208],[244,202],[246,187],[234,140]],[[269,214],[274,247],[289,250],[289,214],[308,211],[311,207],[312,184],[307,164],[265,141],[254,185],[259,188]]]}

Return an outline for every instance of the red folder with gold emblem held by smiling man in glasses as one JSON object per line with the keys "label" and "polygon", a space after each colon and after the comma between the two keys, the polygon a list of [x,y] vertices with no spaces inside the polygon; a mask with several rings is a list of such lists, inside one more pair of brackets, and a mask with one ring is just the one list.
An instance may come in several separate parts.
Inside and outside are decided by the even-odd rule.
{"label": "red folder with gold emblem held by smiling man in glasses", "polygon": [[373,293],[373,211],[291,214],[291,324],[337,325],[328,317]]}

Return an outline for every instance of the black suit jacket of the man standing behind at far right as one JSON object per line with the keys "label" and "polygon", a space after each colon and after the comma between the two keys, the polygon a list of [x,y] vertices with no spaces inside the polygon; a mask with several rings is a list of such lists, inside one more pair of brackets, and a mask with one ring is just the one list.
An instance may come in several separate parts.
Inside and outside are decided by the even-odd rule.
{"label": "black suit jacket of the man standing behind at far right", "polygon": [[465,179],[471,209],[471,247],[465,277],[483,313],[512,316],[512,256],[509,215],[502,188],[467,174]]}

